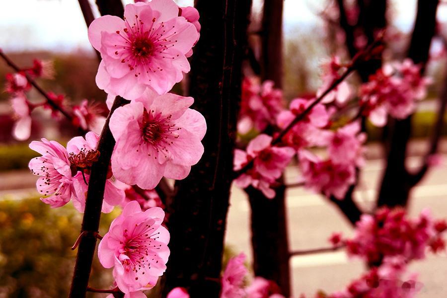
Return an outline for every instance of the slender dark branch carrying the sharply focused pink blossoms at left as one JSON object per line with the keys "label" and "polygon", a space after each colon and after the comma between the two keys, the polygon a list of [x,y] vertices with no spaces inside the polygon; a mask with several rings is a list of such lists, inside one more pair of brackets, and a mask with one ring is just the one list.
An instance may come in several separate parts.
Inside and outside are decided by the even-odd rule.
{"label": "slender dark branch carrying the sharply focused pink blossoms at left", "polygon": [[115,140],[109,129],[110,116],[118,107],[128,102],[129,101],[120,96],[115,98],[98,142],[97,150],[100,152],[100,155],[98,160],[93,163],[91,167],[81,228],[81,233],[84,231],[87,231],[88,233],[84,233],[79,241],[70,298],[83,298],[87,291],[88,279],[90,277],[91,264],[96,246],[96,237],[93,232],[98,232],[99,229],[107,171],[112,151],[115,146]]}

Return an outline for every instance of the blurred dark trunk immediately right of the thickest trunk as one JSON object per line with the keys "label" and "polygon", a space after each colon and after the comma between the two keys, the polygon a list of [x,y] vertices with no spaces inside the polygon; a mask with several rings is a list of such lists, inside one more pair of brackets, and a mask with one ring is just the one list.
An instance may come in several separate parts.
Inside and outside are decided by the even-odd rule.
{"label": "blurred dark trunk immediately right of the thickest trunk", "polygon": [[[283,0],[265,0],[261,29],[261,80],[283,85]],[[252,187],[245,189],[251,207],[251,244],[256,276],[275,281],[290,295],[289,236],[283,178],[273,199]]]}

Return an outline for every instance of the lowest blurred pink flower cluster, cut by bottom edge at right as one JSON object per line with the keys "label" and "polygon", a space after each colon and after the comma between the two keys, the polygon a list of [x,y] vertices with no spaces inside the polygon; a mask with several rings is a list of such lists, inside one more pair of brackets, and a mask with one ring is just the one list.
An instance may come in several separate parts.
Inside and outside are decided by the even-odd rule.
{"label": "lowest blurred pink flower cluster, cut by bottom edge at right", "polygon": [[[416,274],[407,273],[407,264],[399,256],[387,257],[345,290],[325,295],[327,298],[413,298],[421,289]],[[315,298],[323,297],[316,295]]]}

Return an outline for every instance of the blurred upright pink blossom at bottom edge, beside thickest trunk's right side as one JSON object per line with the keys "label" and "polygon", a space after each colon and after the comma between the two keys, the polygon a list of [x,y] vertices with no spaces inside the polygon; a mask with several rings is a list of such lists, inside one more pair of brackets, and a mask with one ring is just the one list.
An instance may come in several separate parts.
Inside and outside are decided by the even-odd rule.
{"label": "blurred upright pink blossom at bottom edge, beside thickest trunk's right side", "polygon": [[245,297],[243,282],[248,272],[244,266],[245,258],[245,255],[240,253],[238,256],[229,259],[222,276],[221,298]]}

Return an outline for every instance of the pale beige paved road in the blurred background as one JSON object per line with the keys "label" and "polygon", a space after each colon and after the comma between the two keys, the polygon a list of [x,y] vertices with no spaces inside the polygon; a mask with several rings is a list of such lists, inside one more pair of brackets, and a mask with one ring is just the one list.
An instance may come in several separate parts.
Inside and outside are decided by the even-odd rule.
{"label": "pale beige paved road in the blurred background", "polygon": [[[423,146],[418,144],[411,147],[412,155],[424,151]],[[444,143],[442,148],[447,149],[446,145]],[[356,193],[365,210],[373,206],[376,185],[383,168],[382,161],[377,159],[380,157],[377,146],[370,146],[368,156],[370,160],[367,161]],[[432,169],[420,186],[413,190],[411,214],[417,214],[424,207],[430,206],[436,217],[447,218],[447,154],[444,157],[446,163]],[[417,156],[408,160],[411,167],[417,167],[419,162],[420,157]],[[288,168],[286,177],[289,182],[296,182],[296,168]],[[20,199],[35,194],[35,181],[36,177],[28,170],[0,173],[0,198]],[[319,195],[311,194],[302,188],[291,189],[288,191],[287,205],[293,250],[326,247],[331,231],[342,231],[348,235],[352,233],[350,225]],[[236,252],[243,251],[250,257],[248,216],[249,207],[244,193],[233,188],[226,243]],[[348,260],[343,251],[294,257],[291,265],[295,297],[300,293],[310,296],[318,289],[326,292],[343,289],[364,270],[362,262]],[[414,263],[411,269],[420,273],[419,280],[424,284],[419,298],[447,297],[445,254]]]}

